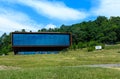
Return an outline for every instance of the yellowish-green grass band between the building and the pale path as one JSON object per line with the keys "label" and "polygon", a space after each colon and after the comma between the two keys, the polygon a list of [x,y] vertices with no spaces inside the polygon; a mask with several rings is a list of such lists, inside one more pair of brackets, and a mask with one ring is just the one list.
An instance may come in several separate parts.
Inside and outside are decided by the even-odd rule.
{"label": "yellowish-green grass band between the building and the pale path", "polygon": [[48,55],[8,55],[0,56],[0,65],[31,68],[120,63],[119,51],[109,49],[87,52],[83,49]]}

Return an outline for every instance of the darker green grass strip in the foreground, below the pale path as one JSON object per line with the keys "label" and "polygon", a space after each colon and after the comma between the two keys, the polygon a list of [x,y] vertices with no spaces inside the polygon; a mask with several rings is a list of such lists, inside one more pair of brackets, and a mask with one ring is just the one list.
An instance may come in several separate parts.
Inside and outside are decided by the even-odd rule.
{"label": "darker green grass strip in the foreground, below the pale path", "polygon": [[120,79],[120,71],[89,67],[42,67],[0,71],[0,79]]}

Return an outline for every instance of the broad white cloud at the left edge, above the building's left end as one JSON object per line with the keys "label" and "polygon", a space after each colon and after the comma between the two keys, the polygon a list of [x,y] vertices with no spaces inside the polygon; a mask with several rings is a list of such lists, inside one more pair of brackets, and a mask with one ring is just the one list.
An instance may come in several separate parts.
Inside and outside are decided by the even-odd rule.
{"label": "broad white cloud at the left edge, above the building's left end", "polygon": [[0,33],[21,29],[37,31],[39,26],[24,13],[0,7]]}

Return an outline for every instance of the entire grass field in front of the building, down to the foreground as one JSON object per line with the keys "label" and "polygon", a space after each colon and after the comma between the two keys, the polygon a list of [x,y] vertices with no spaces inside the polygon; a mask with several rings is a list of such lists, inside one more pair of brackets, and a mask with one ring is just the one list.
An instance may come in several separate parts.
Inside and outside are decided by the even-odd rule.
{"label": "entire grass field in front of the building, down to the foreground", "polygon": [[[87,52],[0,56],[0,79],[120,79],[119,68],[72,67],[120,63],[120,45]],[[70,67],[69,67],[70,66]]]}

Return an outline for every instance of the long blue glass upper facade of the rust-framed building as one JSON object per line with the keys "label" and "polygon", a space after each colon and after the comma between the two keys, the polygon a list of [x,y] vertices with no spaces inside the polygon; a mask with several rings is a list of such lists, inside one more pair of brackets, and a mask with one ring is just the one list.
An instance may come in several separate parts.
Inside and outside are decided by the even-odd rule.
{"label": "long blue glass upper facade of the rust-framed building", "polygon": [[70,46],[69,34],[13,34],[13,46]]}

